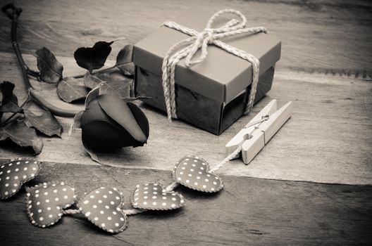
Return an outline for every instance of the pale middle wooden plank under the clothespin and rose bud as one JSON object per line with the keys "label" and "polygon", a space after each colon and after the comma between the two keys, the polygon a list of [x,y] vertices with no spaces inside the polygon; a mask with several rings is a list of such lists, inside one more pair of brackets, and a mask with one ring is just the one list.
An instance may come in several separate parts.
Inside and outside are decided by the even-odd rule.
{"label": "pale middle wooden plank under the clothespin and rose bud", "polygon": [[[19,98],[25,98],[22,78],[13,54],[0,54],[0,75],[16,83]],[[25,56],[35,67],[35,58]],[[82,70],[73,58],[58,57],[65,66],[65,75]],[[45,98],[61,107],[82,108],[59,100],[55,89],[47,84]],[[199,155],[211,164],[225,157],[225,144],[244,127],[264,105],[278,99],[278,108],[293,101],[294,112],[263,150],[246,166],[235,160],[223,167],[221,174],[254,176],[264,179],[316,181],[326,183],[372,183],[372,84],[366,79],[309,75],[303,72],[277,70],[273,88],[252,113],[239,119],[221,136],[196,129],[185,122],[167,122],[163,112],[140,105],[149,118],[150,137],[141,148],[124,148],[114,153],[101,153],[106,164],[118,167],[169,170],[184,155]],[[23,95],[23,96],[21,96]],[[61,138],[43,138],[44,150],[38,160],[95,164],[82,148],[80,131],[67,136],[71,119],[58,118],[64,133]],[[32,156],[14,145],[0,145],[0,157]]]}

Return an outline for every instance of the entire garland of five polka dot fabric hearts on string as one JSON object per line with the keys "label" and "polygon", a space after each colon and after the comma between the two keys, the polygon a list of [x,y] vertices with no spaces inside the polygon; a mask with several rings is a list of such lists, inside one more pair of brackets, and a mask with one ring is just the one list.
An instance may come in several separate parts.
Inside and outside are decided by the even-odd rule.
{"label": "entire garland of five polka dot fabric hearts on string", "polygon": [[[40,170],[32,160],[11,160],[0,166],[0,198],[10,198],[23,183],[34,179]],[[95,226],[109,233],[120,233],[127,228],[127,215],[147,210],[171,210],[183,206],[185,200],[173,189],[181,184],[193,190],[216,193],[223,188],[219,176],[213,174],[208,162],[200,157],[182,157],[173,169],[173,182],[167,188],[159,183],[137,185],[131,199],[134,209],[123,210],[123,194],[117,188],[101,187],[85,193],[75,204],[75,188],[64,182],[41,183],[26,186],[26,207],[31,224],[46,228],[58,222],[63,214],[84,214]]]}

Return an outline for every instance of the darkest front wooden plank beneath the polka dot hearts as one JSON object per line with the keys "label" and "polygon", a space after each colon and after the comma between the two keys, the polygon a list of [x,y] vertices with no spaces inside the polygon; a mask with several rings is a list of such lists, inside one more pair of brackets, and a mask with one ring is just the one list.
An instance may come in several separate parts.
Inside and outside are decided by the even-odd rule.
{"label": "darkest front wooden plank beneath the polka dot hearts", "polygon": [[[44,163],[37,182],[66,181],[77,195],[99,186],[123,191],[125,207],[139,183],[172,182],[170,171]],[[372,240],[372,186],[328,185],[223,176],[220,193],[187,188],[185,207],[129,216],[109,236],[82,216],[63,216],[47,229],[32,226],[25,193],[0,202],[3,245],[361,245]]]}

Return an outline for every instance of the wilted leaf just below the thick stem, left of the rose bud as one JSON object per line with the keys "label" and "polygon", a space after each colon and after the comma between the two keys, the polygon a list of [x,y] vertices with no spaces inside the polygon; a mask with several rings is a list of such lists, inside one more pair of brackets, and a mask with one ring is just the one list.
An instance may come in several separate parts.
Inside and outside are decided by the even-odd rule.
{"label": "wilted leaf just below the thick stem, left of the rose bud", "polygon": [[51,112],[43,110],[42,115],[35,115],[34,113],[25,110],[25,124],[27,127],[34,127],[37,131],[42,132],[47,136],[61,137],[62,126]]}

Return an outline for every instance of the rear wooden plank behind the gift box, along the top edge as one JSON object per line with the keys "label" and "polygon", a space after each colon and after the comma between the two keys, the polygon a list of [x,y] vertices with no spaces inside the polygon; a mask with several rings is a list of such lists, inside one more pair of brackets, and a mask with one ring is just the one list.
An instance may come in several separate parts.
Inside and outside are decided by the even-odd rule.
{"label": "rear wooden plank behind the gift box, along the top edge", "polygon": [[[113,44],[111,59],[126,43],[134,44],[190,6],[236,8],[249,26],[262,25],[283,41],[278,67],[323,74],[372,75],[371,2],[368,1],[17,1],[20,46],[34,53],[46,46],[73,56],[80,46],[125,36]],[[275,10],[275,11],[273,11]],[[0,51],[11,52],[10,23],[0,15]],[[6,25],[8,23],[8,25]]]}

